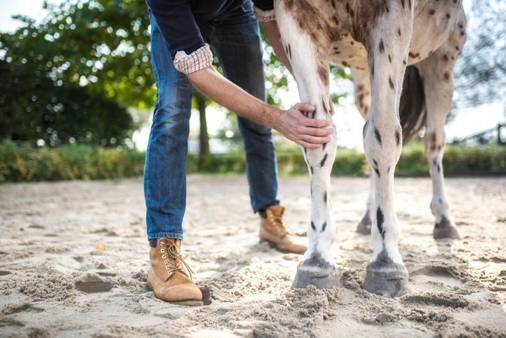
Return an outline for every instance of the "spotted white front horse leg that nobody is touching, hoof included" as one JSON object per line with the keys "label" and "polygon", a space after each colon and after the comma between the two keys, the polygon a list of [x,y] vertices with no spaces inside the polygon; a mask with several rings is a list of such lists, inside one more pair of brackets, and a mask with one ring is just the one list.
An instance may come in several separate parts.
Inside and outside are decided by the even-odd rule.
{"label": "spotted white front horse leg that nobody is touching, hoof included", "polygon": [[[404,5],[404,3],[402,3]],[[388,3],[366,32],[373,92],[364,128],[364,150],[375,175],[373,258],[363,288],[398,297],[408,292],[407,270],[398,250],[400,229],[393,209],[393,172],[402,149],[399,101],[412,35],[412,6]]]}

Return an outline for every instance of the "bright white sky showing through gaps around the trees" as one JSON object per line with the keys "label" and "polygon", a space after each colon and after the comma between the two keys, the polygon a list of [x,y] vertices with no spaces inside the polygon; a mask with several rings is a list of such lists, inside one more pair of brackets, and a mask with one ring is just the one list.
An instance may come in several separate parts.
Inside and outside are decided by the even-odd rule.
{"label": "bright white sky showing through gaps around the trees", "polygon": [[[64,0],[48,0],[50,3],[61,3]],[[20,26],[19,22],[11,18],[12,15],[22,14],[41,20],[45,11],[42,9],[43,0],[0,0],[0,31],[13,31]],[[464,1],[464,8],[470,8],[470,0]],[[342,91],[342,88],[340,88]],[[333,117],[338,129],[338,145],[347,148],[362,148],[362,127],[363,120],[354,106],[351,83],[347,88],[349,95],[343,100],[340,106],[335,106]],[[281,95],[284,108],[298,101],[296,84],[291,79],[289,90]],[[477,108],[466,108],[457,111],[456,118],[451,120],[445,127],[447,141],[464,136],[477,134],[486,129],[496,127],[498,122],[506,122],[506,107],[502,104],[492,103]],[[210,134],[215,134],[224,122],[226,111],[219,108],[208,109],[208,129]],[[198,114],[192,113],[190,120],[192,131],[198,130]],[[150,125],[145,125],[134,134],[134,142],[137,148],[145,150],[147,136],[149,136]],[[190,148],[191,148],[190,144]],[[211,145],[213,148],[213,146]],[[215,150],[220,150],[219,146]]]}

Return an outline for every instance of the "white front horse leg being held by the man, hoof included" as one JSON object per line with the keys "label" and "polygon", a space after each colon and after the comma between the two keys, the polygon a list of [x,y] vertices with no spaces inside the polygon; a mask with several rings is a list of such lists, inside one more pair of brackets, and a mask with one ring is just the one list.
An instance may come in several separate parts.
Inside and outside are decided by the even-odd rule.
{"label": "white front horse leg being held by the man, hoof included", "polygon": [[[282,1],[275,6],[276,21],[280,27],[282,43],[293,69],[301,101],[316,107],[311,118],[331,120],[328,106],[328,54],[322,52],[313,38],[298,25],[284,8]],[[335,131],[334,125],[332,128]],[[303,149],[310,174],[311,216],[308,224],[309,246],[301,262],[292,288],[333,288],[338,273],[331,255],[336,227],[332,220],[330,203],[330,175],[335,159],[335,133],[331,141],[320,148]]]}

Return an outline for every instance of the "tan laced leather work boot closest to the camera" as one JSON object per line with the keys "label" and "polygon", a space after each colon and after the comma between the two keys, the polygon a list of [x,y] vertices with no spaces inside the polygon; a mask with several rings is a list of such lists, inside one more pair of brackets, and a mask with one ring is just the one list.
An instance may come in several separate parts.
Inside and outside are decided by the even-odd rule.
{"label": "tan laced leather work boot closest to the camera", "polygon": [[157,246],[150,250],[150,262],[147,287],[158,299],[194,307],[203,305],[201,290],[191,281],[191,269],[181,257],[180,239],[157,239]]}

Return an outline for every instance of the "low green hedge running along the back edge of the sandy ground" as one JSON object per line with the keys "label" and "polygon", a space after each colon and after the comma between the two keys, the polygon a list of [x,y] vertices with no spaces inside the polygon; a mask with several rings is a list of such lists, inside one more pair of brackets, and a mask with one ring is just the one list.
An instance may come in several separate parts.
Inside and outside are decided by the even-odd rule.
{"label": "low green hedge running along the back edge of the sandy ground", "polygon": [[[34,148],[27,143],[0,143],[0,183],[21,181],[59,181],[140,176],[144,153],[97,146],[69,145]],[[308,169],[301,151],[277,154],[282,175],[305,175]],[[189,155],[188,172],[203,174],[245,173],[244,153]],[[366,176],[369,168],[363,153],[338,149],[333,176]],[[444,153],[446,176],[506,174],[506,147],[498,145],[447,146]],[[397,176],[428,176],[424,147],[409,144],[396,167]]]}

